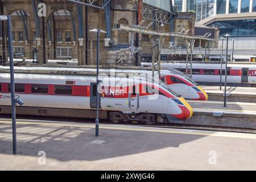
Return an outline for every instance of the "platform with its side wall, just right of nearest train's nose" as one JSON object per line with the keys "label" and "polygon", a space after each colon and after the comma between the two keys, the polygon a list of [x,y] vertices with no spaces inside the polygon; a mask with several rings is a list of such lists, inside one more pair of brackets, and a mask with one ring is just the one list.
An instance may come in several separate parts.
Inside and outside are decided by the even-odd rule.
{"label": "platform with its side wall, just right of nearest train's nose", "polygon": [[223,101],[188,101],[193,116],[186,121],[190,125],[245,128],[256,130],[256,103]]}

